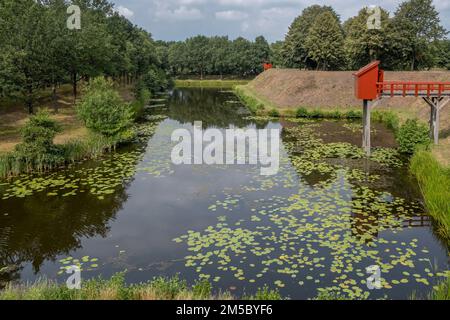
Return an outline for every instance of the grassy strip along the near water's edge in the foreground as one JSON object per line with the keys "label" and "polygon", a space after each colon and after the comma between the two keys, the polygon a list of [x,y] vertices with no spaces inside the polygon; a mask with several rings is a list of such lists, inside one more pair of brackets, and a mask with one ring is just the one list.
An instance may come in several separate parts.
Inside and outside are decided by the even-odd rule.
{"label": "grassy strip along the near water's edge in the foreground", "polygon": [[[178,276],[155,278],[146,283],[127,285],[125,274],[109,280],[95,279],[82,283],[80,290],[41,280],[33,285],[9,286],[0,291],[0,300],[233,300],[229,292],[213,294],[211,284],[198,281],[189,286]],[[278,291],[258,290],[245,300],[281,300]]]}

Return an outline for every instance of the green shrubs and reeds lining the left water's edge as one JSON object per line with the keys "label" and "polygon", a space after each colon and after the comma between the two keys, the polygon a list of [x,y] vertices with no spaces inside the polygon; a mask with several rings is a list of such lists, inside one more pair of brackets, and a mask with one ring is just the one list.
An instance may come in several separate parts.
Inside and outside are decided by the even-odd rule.
{"label": "green shrubs and reeds lining the left water's edge", "polygon": [[136,137],[134,122],[142,116],[150,100],[147,89],[132,103],[126,103],[103,77],[93,79],[76,105],[80,119],[89,129],[88,137],[72,139],[65,144],[54,144],[61,130],[49,112],[32,115],[22,129],[22,143],[13,152],[0,156],[0,178],[21,173],[45,172],[85,159],[94,159],[111,151],[121,143]]}

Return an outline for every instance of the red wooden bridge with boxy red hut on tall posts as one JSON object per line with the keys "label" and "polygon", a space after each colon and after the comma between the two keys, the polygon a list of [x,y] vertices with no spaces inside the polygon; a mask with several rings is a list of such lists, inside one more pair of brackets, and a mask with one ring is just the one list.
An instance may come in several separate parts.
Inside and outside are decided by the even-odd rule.
{"label": "red wooden bridge with boxy red hut on tall posts", "polygon": [[438,144],[440,112],[450,102],[450,82],[385,81],[384,71],[380,70],[379,65],[380,61],[374,61],[354,74],[355,95],[363,100],[363,148],[367,155],[371,153],[371,109],[383,98],[423,98],[431,108],[431,139]]}

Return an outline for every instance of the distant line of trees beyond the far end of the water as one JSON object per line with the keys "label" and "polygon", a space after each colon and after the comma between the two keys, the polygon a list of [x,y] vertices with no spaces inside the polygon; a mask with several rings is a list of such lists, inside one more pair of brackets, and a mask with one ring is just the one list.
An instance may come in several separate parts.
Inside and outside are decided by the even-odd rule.
{"label": "distant line of trees beyond the far end of the water", "polygon": [[158,42],[165,52],[163,61],[172,75],[236,75],[253,76],[270,60],[267,40],[257,37],[253,42],[244,38],[196,36],[181,42]]}

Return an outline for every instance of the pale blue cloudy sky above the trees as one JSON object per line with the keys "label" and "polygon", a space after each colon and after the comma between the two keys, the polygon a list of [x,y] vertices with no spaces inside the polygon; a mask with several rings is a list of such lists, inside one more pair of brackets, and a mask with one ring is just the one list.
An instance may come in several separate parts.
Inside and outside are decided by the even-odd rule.
{"label": "pale blue cloudy sky above the trees", "polygon": [[[343,20],[363,6],[394,12],[402,0],[112,0],[116,10],[151,32],[155,39],[184,40],[202,35],[264,35],[282,40],[293,19],[307,6],[333,6]],[[434,0],[443,25],[450,30],[450,0]]]}

